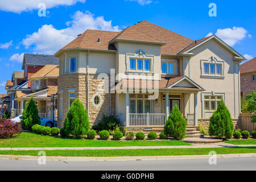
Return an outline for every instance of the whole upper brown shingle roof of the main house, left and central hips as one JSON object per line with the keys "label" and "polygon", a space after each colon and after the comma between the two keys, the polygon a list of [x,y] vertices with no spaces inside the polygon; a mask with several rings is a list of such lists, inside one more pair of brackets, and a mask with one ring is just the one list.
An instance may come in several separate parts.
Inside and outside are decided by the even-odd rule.
{"label": "whole upper brown shingle roof of the main house, left and central hips", "polygon": [[[100,39],[100,43],[97,42],[98,39]],[[192,39],[176,34],[166,28],[143,21],[121,32],[86,30],[62,49],[85,48],[116,50],[115,46],[109,43],[113,39],[167,43],[161,47],[161,53],[168,55],[176,55],[193,42]]]}

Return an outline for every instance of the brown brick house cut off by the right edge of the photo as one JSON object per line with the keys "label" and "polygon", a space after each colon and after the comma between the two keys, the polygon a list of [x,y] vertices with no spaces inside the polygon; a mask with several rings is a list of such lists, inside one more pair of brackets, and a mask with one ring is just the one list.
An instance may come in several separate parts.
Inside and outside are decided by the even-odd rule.
{"label": "brown brick house cut off by the right edge of the photo", "polygon": [[256,91],[256,57],[240,65],[241,97]]}

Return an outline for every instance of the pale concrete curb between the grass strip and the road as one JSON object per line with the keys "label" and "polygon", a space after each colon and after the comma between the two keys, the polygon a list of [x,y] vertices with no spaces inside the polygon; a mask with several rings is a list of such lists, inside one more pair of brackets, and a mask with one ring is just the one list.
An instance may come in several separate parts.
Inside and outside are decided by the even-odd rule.
{"label": "pale concrete curb between the grass strip and the road", "polygon": [[[171,159],[209,159],[213,155],[172,155],[172,156],[119,156],[119,157],[72,157],[47,156],[49,161],[122,161],[122,160],[171,160]],[[256,157],[256,153],[248,154],[217,154],[216,158],[248,158]],[[0,155],[0,159],[38,160],[42,156]]]}

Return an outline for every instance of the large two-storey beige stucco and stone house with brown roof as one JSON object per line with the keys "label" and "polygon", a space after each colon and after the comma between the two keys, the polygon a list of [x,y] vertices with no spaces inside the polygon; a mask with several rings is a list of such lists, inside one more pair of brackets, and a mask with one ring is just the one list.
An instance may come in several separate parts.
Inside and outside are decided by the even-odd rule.
{"label": "large two-storey beige stucco and stone house with brown roof", "polygon": [[163,127],[177,105],[188,125],[207,127],[221,99],[235,124],[240,117],[245,58],[216,35],[194,41],[143,21],[121,32],[86,30],[55,56],[58,127],[75,98],[88,110],[90,125],[115,114],[123,126]]}

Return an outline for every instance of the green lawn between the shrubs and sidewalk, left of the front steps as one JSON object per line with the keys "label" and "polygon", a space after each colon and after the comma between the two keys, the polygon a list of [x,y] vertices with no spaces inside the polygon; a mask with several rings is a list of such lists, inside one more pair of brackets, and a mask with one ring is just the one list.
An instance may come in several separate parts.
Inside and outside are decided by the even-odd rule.
{"label": "green lawn between the shrubs and sidewalk, left of the front steps", "polygon": [[104,141],[88,139],[63,139],[33,133],[22,133],[11,139],[0,139],[1,147],[124,147],[124,146],[188,146],[179,140],[159,141]]}

